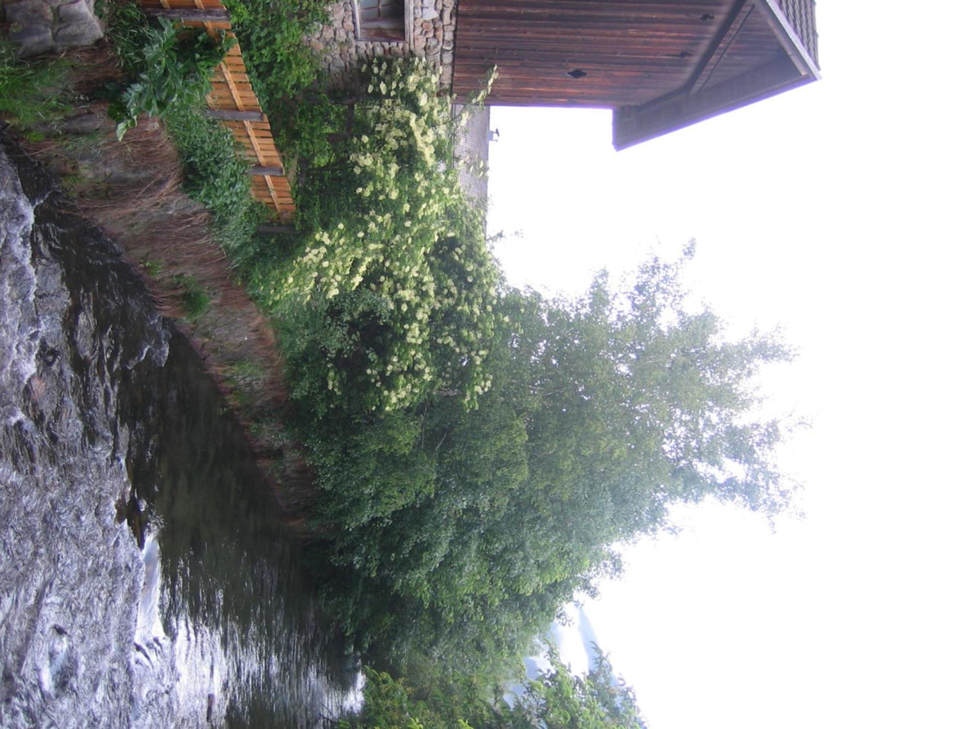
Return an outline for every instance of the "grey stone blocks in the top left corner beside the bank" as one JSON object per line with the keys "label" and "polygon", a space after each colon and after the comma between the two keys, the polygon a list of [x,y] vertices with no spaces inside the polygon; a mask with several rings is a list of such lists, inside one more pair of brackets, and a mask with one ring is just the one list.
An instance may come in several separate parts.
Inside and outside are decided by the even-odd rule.
{"label": "grey stone blocks in the top left corner beside the bank", "polygon": [[23,56],[87,46],[103,35],[94,0],[0,0],[0,20]]}

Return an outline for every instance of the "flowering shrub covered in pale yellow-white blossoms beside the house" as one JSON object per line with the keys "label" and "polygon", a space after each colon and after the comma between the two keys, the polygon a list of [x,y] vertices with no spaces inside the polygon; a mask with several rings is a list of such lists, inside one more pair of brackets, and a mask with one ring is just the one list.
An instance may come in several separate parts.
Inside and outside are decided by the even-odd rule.
{"label": "flowering shrub covered in pale yellow-white blossoms beside the house", "polygon": [[[474,406],[495,326],[498,267],[452,164],[451,100],[421,59],[364,67],[346,195],[263,282],[294,394],[393,410],[431,391]],[[485,89],[484,89],[485,93]],[[332,178],[333,179],[333,178]],[[332,191],[333,192],[333,191]]]}

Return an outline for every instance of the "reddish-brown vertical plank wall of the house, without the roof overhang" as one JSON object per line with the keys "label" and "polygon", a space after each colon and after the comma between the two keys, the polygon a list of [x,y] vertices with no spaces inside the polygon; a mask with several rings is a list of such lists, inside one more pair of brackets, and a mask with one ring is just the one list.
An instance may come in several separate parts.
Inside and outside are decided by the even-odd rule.
{"label": "reddish-brown vertical plank wall of the house, without the roof overhang", "polygon": [[[642,103],[688,81],[732,6],[733,0],[462,0],[453,88],[460,94],[478,88],[496,63],[501,73],[490,103]],[[568,76],[575,68],[585,76]]]}

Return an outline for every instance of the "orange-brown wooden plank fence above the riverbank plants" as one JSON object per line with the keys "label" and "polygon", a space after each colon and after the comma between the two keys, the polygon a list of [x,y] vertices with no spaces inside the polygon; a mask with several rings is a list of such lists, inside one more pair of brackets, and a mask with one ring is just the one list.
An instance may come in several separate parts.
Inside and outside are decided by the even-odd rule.
{"label": "orange-brown wooden plank fence above the riverbank plants", "polygon": [[[204,27],[210,35],[221,30],[232,36],[229,13],[220,0],[141,0],[151,16],[169,17],[184,25]],[[243,54],[233,46],[213,74],[209,116],[222,121],[253,162],[253,194],[271,208],[282,223],[294,220],[294,196],[284,163],[273,141],[270,123],[250,85]]]}

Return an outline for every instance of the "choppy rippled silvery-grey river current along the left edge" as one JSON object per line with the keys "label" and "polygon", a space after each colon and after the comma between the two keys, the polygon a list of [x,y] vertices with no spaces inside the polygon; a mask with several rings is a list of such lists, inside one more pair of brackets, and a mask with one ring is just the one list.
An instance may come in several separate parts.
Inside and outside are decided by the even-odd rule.
{"label": "choppy rippled silvery-grey river current along the left edge", "polygon": [[63,213],[45,178],[5,141],[0,724],[124,726],[144,564],[117,518],[133,497],[118,384],[163,364],[169,333],[147,294],[107,295],[140,287],[96,229],[78,220],[76,240],[52,234]]}

